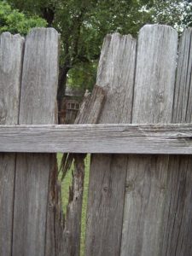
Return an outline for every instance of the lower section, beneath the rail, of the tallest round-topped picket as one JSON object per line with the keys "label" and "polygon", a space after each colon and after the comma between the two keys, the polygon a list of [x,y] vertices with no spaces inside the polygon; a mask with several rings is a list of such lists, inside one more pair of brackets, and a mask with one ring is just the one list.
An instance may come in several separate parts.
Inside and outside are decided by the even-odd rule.
{"label": "lower section, beneath the rail, of the tallest round-topped picket", "polygon": [[[168,156],[128,157],[122,255],[160,254]],[[172,254],[171,254],[172,255]]]}

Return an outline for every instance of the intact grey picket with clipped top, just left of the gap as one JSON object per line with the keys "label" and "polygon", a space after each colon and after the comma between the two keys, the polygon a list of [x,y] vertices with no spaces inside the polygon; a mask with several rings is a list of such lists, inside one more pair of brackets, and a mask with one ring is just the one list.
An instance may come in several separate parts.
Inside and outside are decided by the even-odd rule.
{"label": "intact grey picket with clipped top, just left of the gap", "polygon": [[[55,124],[58,79],[58,33],[52,28],[36,28],[26,36],[20,95],[20,124]],[[47,250],[50,154],[18,154],[15,174],[15,214],[13,256],[54,255]],[[46,228],[47,225],[47,228]]]}

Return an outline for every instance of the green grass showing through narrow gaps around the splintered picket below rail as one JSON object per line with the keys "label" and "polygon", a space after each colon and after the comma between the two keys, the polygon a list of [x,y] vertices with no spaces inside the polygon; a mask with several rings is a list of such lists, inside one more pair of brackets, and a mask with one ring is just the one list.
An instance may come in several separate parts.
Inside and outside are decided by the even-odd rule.
{"label": "green grass showing through narrow gaps around the splintered picket below rail", "polygon": [[[60,166],[62,154],[57,154],[58,166]],[[90,154],[84,160],[85,171],[84,171],[84,196],[83,196],[83,206],[82,206],[82,218],[81,218],[81,256],[84,256],[84,242],[85,242],[85,225],[86,225],[86,210],[87,210],[87,198],[88,198],[88,188],[89,188],[89,178],[90,178]],[[71,167],[70,171],[67,172],[66,177],[61,183],[61,196],[62,196],[62,206],[63,212],[66,213],[67,203],[68,203],[68,191],[69,186],[72,184],[72,172],[74,166]]]}

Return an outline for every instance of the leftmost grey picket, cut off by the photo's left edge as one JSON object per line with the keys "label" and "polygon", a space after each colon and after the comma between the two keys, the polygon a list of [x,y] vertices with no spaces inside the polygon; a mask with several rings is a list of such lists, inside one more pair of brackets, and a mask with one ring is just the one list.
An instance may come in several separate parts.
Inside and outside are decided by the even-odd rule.
{"label": "leftmost grey picket, cut off by the photo's left edge", "polygon": [[[24,38],[0,36],[0,125],[16,125]],[[15,154],[0,154],[0,255],[11,255],[15,188]]]}

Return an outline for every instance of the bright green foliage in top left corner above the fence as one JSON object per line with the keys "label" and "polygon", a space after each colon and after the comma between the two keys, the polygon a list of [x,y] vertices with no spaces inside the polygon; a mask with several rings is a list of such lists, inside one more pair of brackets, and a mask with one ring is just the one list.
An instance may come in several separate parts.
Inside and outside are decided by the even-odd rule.
{"label": "bright green foliage in top left corner above the fence", "polygon": [[46,20],[37,15],[27,16],[12,9],[8,3],[0,2],[0,32],[26,35],[34,26],[46,26]]}

